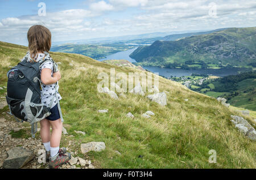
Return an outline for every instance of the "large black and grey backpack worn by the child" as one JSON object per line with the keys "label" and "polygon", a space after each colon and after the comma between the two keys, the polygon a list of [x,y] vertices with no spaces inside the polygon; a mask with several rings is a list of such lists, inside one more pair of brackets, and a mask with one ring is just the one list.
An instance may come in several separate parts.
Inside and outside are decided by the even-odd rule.
{"label": "large black and grey backpack worn by the child", "polygon": [[[7,96],[6,101],[9,105],[11,115],[17,122],[30,122],[32,138],[35,138],[37,132],[37,122],[51,115],[50,109],[41,102],[40,89],[40,67],[47,61],[52,61],[53,72],[57,72],[57,65],[50,57],[49,53],[44,52],[45,56],[38,62],[28,62],[27,55],[15,67],[7,72]],[[57,85],[55,85],[55,90]],[[57,91],[55,91],[57,92]],[[55,93],[56,96],[56,93]],[[49,107],[52,106],[53,97]],[[60,112],[61,121],[63,117],[60,110],[59,101],[57,106]],[[21,119],[21,121],[19,121]]]}

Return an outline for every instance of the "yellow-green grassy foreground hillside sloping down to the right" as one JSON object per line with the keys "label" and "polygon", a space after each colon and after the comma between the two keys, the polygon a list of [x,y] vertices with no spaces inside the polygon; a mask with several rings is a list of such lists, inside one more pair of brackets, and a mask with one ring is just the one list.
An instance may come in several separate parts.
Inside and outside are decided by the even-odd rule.
{"label": "yellow-green grassy foreground hillside sloping down to the right", "polygon": [[[9,66],[15,66],[26,51],[24,46],[0,42],[0,85],[6,86]],[[79,54],[51,52],[51,56],[61,62],[60,104],[69,133],[61,139],[61,146],[73,142],[69,151],[82,158],[89,156],[97,168],[256,168],[255,142],[245,138],[230,122],[230,115],[241,114],[216,99],[159,77],[159,90],[167,93],[166,106],[131,93],[113,100],[97,92],[101,81],[98,74],[110,74],[111,67],[126,74],[141,70],[109,65]],[[73,66],[69,65],[71,62]],[[0,90],[0,96],[4,93],[5,89]],[[97,112],[105,108],[108,113]],[[7,106],[1,110],[0,118],[14,121],[3,114],[7,110]],[[155,116],[142,118],[147,110]],[[128,112],[135,118],[127,118]],[[243,117],[253,121],[252,117]],[[86,135],[76,134],[75,130]],[[106,149],[83,155],[80,144],[92,141],[105,142]],[[217,164],[208,162],[210,149],[217,152]]]}

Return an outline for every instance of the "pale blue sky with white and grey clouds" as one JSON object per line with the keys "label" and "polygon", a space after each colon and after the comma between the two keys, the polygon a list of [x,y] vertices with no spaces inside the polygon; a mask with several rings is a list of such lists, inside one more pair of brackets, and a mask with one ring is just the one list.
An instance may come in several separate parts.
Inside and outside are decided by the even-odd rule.
{"label": "pale blue sky with white and grey clouds", "polygon": [[27,45],[27,31],[46,26],[52,41],[255,27],[247,0],[0,0],[0,41]]}

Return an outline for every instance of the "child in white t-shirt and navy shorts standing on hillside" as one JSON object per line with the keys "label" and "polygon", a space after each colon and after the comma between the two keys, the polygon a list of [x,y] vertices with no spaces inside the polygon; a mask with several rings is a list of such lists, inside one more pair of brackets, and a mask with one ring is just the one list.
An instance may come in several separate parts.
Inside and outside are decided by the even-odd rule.
{"label": "child in white t-shirt and navy shorts standing on hillside", "polygon": [[[51,58],[49,56],[51,49],[51,32],[49,29],[43,25],[33,25],[27,32],[27,38],[27,61],[38,62],[40,59]],[[65,148],[59,148],[63,123],[57,106],[57,101],[61,100],[61,96],[57,91],[61,75],[58,70],[53,72],[53,66],[55,65],[52,61],[42,63],[40,66],[41,102],[51,108],[51,115],[40,121],[40,136],[46,148],[46,161],[49,161],[49,168],[57,168],[60,164],[71,159],[71,154]],[[51,101],[52,98],[55,99]],[[50,105],[51,107],[49,107]],[[50,133],[50,126],[52,127],[52,134]]]}

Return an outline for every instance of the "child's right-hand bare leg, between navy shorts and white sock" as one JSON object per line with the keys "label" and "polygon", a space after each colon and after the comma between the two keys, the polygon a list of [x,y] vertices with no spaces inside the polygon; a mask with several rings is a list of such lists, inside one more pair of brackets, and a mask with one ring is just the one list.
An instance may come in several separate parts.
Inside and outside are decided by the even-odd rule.
{"label": "child's right-hand bare leg, between navy shorts and white sock", "polygon": [[62,122],[61,119],[57,119],[55,121],[49,121],[52,126],[52,134],[51,134],[51,147],[59,147],[60,139],[62,133]]}

